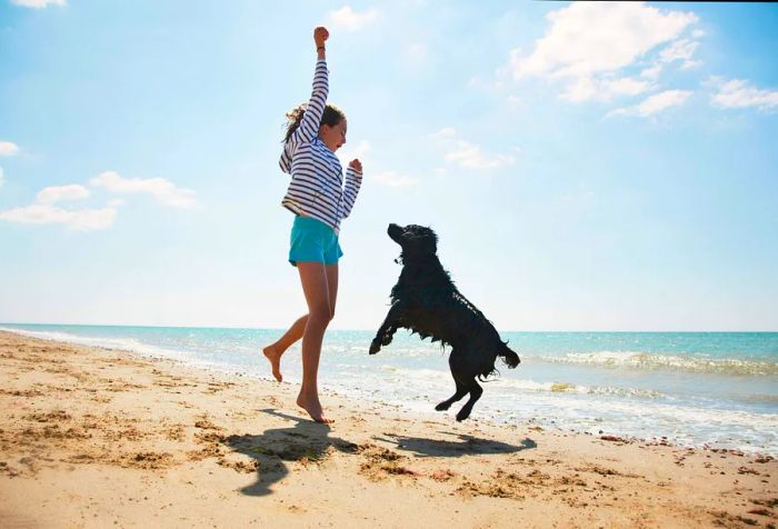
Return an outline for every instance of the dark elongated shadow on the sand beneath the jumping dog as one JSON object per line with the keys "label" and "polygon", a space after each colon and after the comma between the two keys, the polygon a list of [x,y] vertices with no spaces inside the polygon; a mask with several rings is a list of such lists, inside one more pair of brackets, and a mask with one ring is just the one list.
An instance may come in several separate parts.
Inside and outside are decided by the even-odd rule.
{"label": "dark elongated shadow on the sand beneath the jumping dog", "polygon": [[457,437],[457,440],[425,439],[421,437],[406,437],[393,433],[383,433],[387,438],[375,437],[373,439],[385,442],[393,442],[400,450],[413,452],[420,457],[459,457],[472,453],[515,453],[521,450],[537,448],[537,443],[525,438],[520,445],[508,445],[507,442],[480,439],[465,433],[453,433],[441,431],[447,436]]}

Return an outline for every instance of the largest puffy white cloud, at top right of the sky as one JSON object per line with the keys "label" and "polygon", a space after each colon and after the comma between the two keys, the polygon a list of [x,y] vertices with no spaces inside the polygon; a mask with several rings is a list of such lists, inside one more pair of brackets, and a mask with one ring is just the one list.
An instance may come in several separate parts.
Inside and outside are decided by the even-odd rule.
{"label": "largest puffy white cloud, at top right of the sky", "polygon": [[[530,76],[561,80],[567,86],[562,97],[575,102],[645,92],[651,88],[648,83],[625,77],[620,70],[698,21],[695,13],[660,10],[644,2],[573,2],[549,12],[547,19],[548,31],[535,42],[531,53],[510,52],[508,70],[517,80]],[[694,52],[697,43],[687,42],[674,51]],[[649,68],[642,73],[651,80],[659,70]]]}

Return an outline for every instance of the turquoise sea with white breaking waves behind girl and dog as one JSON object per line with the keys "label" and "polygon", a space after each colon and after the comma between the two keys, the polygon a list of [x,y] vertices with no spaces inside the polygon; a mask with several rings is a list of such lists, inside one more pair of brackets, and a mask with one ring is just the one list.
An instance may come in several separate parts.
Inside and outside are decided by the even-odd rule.
{"label": "turquoise sea with white breaking waves behind girl and dog", "polygon": [[[174,358],[270,378],[260,348],[281,330],[0,325],[1,330]],[[521,357],[485,385],[472,417],[684,446],[778,455],[778,332],[503,332]],[[453,392],[448,350],[403,331],[328,331],[320,383],[353,399],[432,412]],[[282,371],[300,379],[300,346]],[[498,368],[500,365],[498,365]],[[458,405],[446,412],[453,416]],[[453,417],[451,417],[453,420]]]}

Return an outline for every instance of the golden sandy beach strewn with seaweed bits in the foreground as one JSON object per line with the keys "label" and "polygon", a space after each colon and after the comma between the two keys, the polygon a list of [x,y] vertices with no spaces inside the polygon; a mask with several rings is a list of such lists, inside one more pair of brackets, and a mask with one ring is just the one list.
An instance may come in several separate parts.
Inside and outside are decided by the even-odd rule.
{"label": "golden sandy beach strewn with seaweed bits in the foreground", "polygon": [[7,332],[0,375],[0,528],[778,523],[770,457],[332,392],[327,427],[291,383]]}

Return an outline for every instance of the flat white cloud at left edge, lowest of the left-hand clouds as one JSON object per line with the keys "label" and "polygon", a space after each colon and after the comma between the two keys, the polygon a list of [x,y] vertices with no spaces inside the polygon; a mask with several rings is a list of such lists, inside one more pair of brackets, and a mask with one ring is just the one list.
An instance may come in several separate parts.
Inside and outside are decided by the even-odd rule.
{"label": "flat white cloud at left edge, lowest of the left-hand clouds", "polygon": [[104,230],[113,224],[113,208],[67,211],[48,203],[33,203],[0,212],[0,219],[20,224],[66,224],[79,231]]}

